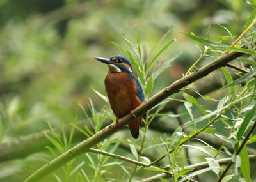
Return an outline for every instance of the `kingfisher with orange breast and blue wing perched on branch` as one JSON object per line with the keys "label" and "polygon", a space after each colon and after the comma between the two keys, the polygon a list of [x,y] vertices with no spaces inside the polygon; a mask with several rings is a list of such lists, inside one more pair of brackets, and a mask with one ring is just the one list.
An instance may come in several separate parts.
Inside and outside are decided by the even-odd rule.
{"label": "kingfisher with orange breast and blue wing perched on branch", "polygon": [[[118,120],[129,113],[134,116],[132,110],[145,102],[143,89],[140,81],[132,73],[130,61],[124,56],[95,59],[108,65],[105,87],[111,109],[116,116],[116,126],[120,127]],[[143,116],[140,116],[128,125],[135,139],[139,137],[142,118]]]}

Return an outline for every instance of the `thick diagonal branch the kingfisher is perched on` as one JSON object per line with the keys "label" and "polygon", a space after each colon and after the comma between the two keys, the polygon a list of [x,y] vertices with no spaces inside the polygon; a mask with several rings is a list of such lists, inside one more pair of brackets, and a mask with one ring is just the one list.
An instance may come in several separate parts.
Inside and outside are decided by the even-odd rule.
{"label": "thick diagonal branch the kingfisher is perched on", "polygon": [[[243,48],[247,49],[246,46],[244,46]],[[179,92],[180,89],[182,89],[183,87],[186,87],[189,84],[195,82],[196,80],[201,79],[202,77],[205,77],[206,75],[213,72],[214,70],[217,70],[222,66],[225,66],[228,62],[243,55],[244,54],[241,52],[229,52],[228,54],[225,54],[224,56],[219,57],[215,61],[212,61],[211,63],[203,66],[201,69],[196,70],[195,72],[190,73],[189,75],[183,77],[182,79],[173,82],[172,85],[166,87],[156,95],[152,96],[152,98],[150,98],[146,103],[143,103],[142,105],[134,109],[134,115],[136,116],[135,118],[132,117],[131,114],[127,114],[126,116],[121,118],[119,120],[120,127],[128,125],[134,119],[138,118],[139,116],[142,116],[145,112],[152,109],[154,106],[162,102],[164,99],[168,98],[168,96]],[[84,140],[80,144],[77,144],[77,146],[75,146],[74,148],[68,150],[67,152],[60,155],[58,158],[47,163],[47,165],[44,165],[34,174],[29,176],[29,178],[26,179],[26,182],[39,181],[40,179],[44,178],[44,176],[55,171],[56,169],[58,169],[60,166],[64,165],[68,161],[88,151],[88,149],[92,148],[102,140],[111,136],[113,133],[117,132],[119,129],[120,128],[116,126],[115,123],[112,123],[106,128],[103,128],[100,132],[96,133],[89,139]]]}

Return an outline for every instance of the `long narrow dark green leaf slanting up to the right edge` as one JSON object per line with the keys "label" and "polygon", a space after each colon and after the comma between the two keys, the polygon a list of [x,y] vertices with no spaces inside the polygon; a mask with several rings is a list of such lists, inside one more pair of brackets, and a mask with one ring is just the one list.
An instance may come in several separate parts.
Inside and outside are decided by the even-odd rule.
{"label": "long narrow dark green leaf slanting up to the right edge", "polygon": [[245,115],[244,121],[243,121],[242,125],[240,126],[240,128],[237,132],[237,135],[236,135],[235,151],[237,151],[237,149],[239,147],[239,143],[240,143],[241,138],[243,137],[243,133],[245,132],[245,130],[250,122],[250,119],[253,117],[255,110],[256,110],[256,104]]}

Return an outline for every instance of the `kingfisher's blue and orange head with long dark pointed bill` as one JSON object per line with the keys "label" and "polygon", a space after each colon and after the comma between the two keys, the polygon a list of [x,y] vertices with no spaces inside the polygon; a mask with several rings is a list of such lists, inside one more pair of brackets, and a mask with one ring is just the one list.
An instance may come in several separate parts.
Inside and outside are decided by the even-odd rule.
{"label": "kingfisher's blue and orange head with long dark pointed bill", "polygon": [[98,61],[108,64],[109,73],[127,72],[132,73],[132,65],[124,56],[115,55],[109,58],[95,57]]}

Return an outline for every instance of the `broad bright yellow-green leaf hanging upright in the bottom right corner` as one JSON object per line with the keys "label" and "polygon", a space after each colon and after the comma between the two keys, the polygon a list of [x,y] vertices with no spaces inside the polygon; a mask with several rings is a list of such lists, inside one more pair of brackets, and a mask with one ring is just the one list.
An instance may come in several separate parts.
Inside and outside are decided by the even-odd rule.
{"label": "broad bright yellow-green leaf hanging upright in the bottom right corner", "polygon": [[243,174],[244,178],[246,179],[246,181],[250,182],[250,181],[252,181],[252,179],[250,177],[250,161],[249,161],[246,146],[243,147],[243,149],[239,153],[239,156],[240,156],[241,162],[242,162],[241,163],[242,174]]}

